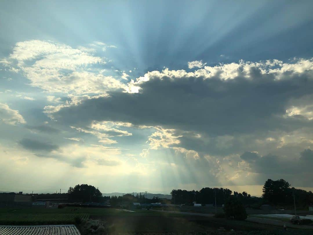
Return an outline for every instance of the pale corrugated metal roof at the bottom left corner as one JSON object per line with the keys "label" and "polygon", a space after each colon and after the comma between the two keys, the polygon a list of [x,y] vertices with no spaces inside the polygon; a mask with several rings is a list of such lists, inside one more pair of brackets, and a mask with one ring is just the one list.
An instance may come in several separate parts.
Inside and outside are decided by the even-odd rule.
{"label": "pale corrugated metal roof at the bottom left corner", "polygon": [[23,234],[55,234],[55,235],[80,235],[79,230],[73,224],[68,225],[0,225],[1,235]]}

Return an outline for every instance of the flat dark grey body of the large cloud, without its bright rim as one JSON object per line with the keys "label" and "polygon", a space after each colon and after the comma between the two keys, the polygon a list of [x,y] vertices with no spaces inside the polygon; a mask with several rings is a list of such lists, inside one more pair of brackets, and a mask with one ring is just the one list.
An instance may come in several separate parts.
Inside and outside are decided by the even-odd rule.
{"label": "flat dark grey body of the large cloud, without its bright rim", "polygon": [[312,126],[312,121],[301,115],[283,117],[291,100],[312,93],[310,72],[285,74],[280,80],[273,74],[260,74],[256,68],[251,72],[249,79],[154,77],[140,85],[139,93],[111,92],[109,97],[64,107],[54,116],[71,124],[114,120],[162,125],[210,136],[277,129],[292,131]]}

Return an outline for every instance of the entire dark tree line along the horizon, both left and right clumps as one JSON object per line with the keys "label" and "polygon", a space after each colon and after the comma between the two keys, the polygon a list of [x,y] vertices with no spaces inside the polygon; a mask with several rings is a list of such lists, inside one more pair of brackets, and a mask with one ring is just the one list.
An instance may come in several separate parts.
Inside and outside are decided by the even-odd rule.
{"label": "entire dark tree line along the horizon, both left and right clumps", "polygon": [[123,196],[102,196],[102,193],[98,188],[92,185],[81,184],[74,187],[69,187],[67,193],[64,194],[40,194],[38,199],[50,199],[50,198],[68,198],[69,202],[95,202],[104,203],[110,202],[112,206],[121,204],[130,204],[133,202],[139,203],[155,203],[161,202],[162,204],[185,204],[193,205],[193,203],[199,204],[213,204],[215,200],[217,205],[226,204],[230,197],[235,197],[245,207],[251,207],[259,209],[262,204],[269,204],[272,206],[293,206],[293,200],[295,197],[296,206],[299,208],[305,208],[309,205],[313,205],[313,193],[305,190],[296,189],[290,187],[290,184],[283,180],[271,180],[268,179],[263,186],[263,194],[261,197],[251,197],[250,194],[243,191],[232,192],[227,188],[202,188],[200,191],[188,191],[181,189],[173,189],[171,191],[172,199],[160,199],[152,198],[146,199],[144,194],[125,194]]}

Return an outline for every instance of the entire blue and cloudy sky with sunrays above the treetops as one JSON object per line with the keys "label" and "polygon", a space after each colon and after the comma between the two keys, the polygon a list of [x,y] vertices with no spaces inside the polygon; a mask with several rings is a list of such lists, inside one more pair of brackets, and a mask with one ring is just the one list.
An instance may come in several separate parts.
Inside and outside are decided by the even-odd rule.
{"label": "entire blue and cloudy sky with sunrays above the treetops", "polygon": [[1,1],[0,191],[313,189],[312,1]]}

